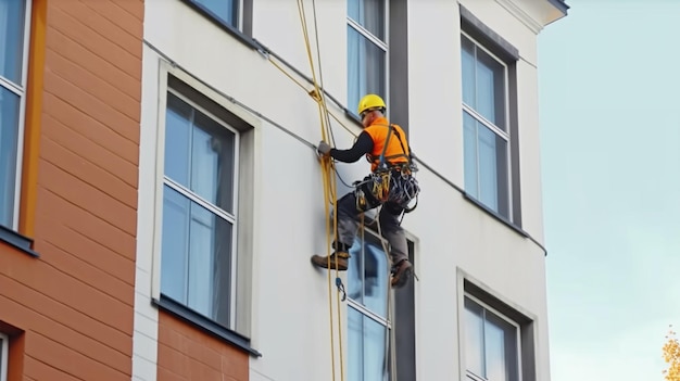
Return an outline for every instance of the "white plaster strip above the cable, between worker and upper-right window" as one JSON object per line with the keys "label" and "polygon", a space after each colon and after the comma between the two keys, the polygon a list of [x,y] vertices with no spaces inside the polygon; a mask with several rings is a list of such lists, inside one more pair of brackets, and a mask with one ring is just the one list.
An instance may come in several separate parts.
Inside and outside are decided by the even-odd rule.
{"label": "white plaster strip above the cable, between worker and upper-right window", "polygon": [[419,158],[463,185],[458,25],[455,1],[428,0],[408,8],[411,145]]}

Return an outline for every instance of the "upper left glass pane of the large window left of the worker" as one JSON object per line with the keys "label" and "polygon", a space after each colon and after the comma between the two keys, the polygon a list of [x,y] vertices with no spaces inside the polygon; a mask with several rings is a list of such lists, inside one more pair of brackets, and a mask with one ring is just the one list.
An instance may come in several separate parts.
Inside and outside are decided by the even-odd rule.
{"label": "upper left glass pane of the large window left of the worker", "polygon": [[191,143],[191,115],[193,109],[167,94],[165,114],[165,175],[189,188],[189,162]]}

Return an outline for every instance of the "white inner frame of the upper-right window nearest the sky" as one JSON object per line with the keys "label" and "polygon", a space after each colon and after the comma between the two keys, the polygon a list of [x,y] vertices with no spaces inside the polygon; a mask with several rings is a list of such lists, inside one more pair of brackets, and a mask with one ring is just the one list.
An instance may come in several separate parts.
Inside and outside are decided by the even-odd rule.
{"label": "white inner frame of the upper-right window nearest the sky", "polygon": [[[475,109],[467,105],[463,101],[463,97],[461,97],[461,104],[463,106],[464,112],[467,112],[470,116],[473,116],[473,118],[475,118],[477,122],[481,123],[491,131],[493,131],[495,136],[501,137],[507,144],[507,150],[505,150],[505,170],[507,173],[507,187],[506,187],[507,200],[506,202],[507,202],[507,208],[508,208],[507,219],[512,221],[514,218],[514,215],[513,215],[514,211],[513,211],[513,173],[512,173],[512,163],[511,163],[512,143],[511,143],[511,119],[509,119],[509,69],[508,69],[507,63],[499,59],[499,56],[494,54],[493,52],[491,52],[489,49],[487,49],[487,47],[484,47],[483,43],[477,41],[473,36],[465,33],[464,30],[461,30],[461,35],[467,38],[468,40],[470,40],[475,45],[476,49],[481,49],[487,54],[489,54],[489,56],[491,56],[495,62],[498,62],[499,64],[501,64],[501,66],[503,66],[503,72],[504,72],[504,75],[503,75],[503,80],[504,80],[503,82],[503,103],[504,103],[503,114],[504,115],[503,117],[505,120],[505,131],[502,128],[494,125],[491,120],[487,119],[484,116],[479,114]],[[463,50],[462,46],[461,46],[461,50]],[[475,60],[475,62],[477,62],[477,59]],[[461,75],[461,80],[462,79],[463,79],[463,75]],[[475,78],[475,80],[477,80],[477,78]],[[477,84],[475,84],[475,89],[477,89]],[[479,142],[479,136],[475,137],[475,141]],[[476,152],[475,160],[477,161],[477,163],[479,163],[479,150],[475,150],[475,152]],[[478,175],[479,175],[479,170],[478,170]],[[477,190],[481,192],[481,183],[480,183],[479,178],[480,176],[477,176]],[[475,195],[475,199],[478,200],[478,196]],[[481,202],[481,200],[479,200],[479,202]],[[501,214],[499,211],[495,211],[495,212]]]}

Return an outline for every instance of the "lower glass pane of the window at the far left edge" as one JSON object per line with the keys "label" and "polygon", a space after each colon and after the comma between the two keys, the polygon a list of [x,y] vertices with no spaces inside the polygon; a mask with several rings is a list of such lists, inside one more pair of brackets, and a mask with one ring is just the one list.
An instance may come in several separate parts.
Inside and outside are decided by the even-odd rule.
{"label": "lower glass pane of the window at the far left edge", "polygon": [[18,105],[18,96],[0,86],[0,224],[10,228],[14,223]]}

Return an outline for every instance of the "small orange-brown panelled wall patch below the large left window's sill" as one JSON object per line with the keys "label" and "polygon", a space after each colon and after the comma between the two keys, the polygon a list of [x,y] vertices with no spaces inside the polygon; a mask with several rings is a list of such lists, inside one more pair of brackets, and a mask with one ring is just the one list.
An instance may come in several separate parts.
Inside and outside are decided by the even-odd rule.
{"label": "small orange-brown panelled wall patch below the large left window's sill", "polygon": [[159,381],[248,381],[248,354],[161,313]]}

